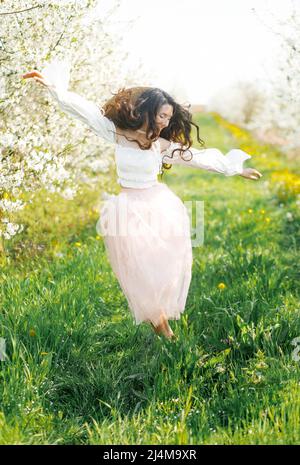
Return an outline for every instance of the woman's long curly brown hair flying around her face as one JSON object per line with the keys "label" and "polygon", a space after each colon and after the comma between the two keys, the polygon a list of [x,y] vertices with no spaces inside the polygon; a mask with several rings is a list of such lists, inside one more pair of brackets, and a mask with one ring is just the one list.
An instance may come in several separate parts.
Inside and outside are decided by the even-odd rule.
{"label": "woman's long curly brown hair flying around her face", "polygon": [[[173,116],[169,125],[160,131],[155,122],[156,115],[162,105],[171,105],[173,107]],[[204,141],[199,135],[199,126],[192,121],[192,113],[188,110],[190,106],[185,107],[177,103],[171,95],[157,87],[131,87],[121,88],[113,97],[110,98],[103,106],[103,114],[113,121],[115,126],[120,129],[140,129],[147,122],[146,136],[149,140],[146,144],[141,144],[136,139],[126,139],[135,141],[142,150],[148,150],[159,137],[171,142],[178,142],[181,148],[174,149],[172,155],[165,155],[173,158],[174,153],[179,151],[181,158],[185,152],[189,152],[192,158],[192,152],[189,150],[193,140],[191,138],[192,126],[197,131],[197,141],[202,147],[205,147]],[[184,147],[183,147],[184,146]],[[164,157],[163,157],[164,158]],[[191,160],[189,158],[189,160]],[[164,169],[170,169],[172,164],[162,163],[162,175]]]}

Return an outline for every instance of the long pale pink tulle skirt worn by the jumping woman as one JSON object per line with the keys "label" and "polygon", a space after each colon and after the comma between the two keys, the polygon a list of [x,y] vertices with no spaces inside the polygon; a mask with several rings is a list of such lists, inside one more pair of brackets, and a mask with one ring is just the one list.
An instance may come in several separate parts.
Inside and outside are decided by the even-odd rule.
{"label": "long pale pink tulle skirt worn by the jumping woman", "polygon": [[106,194],[97,223],[135,324],[180,318],[191,281],[190,219],[166,184]]}

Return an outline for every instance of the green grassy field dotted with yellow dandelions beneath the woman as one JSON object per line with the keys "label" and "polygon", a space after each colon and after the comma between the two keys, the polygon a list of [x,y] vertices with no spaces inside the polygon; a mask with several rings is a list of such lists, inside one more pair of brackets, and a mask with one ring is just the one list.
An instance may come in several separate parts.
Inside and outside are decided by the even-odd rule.
{"label": "green grassy field dotted with yellow dandelions beneath the woman", "polygon": [[134,325],[97,236],[109,176],[19,213],[0,267],[1,444],[300,444],[296,162],[218,115],[198,121],[207,147],[248,151],[263,177],[165,175],[205,205],[176,342]]}

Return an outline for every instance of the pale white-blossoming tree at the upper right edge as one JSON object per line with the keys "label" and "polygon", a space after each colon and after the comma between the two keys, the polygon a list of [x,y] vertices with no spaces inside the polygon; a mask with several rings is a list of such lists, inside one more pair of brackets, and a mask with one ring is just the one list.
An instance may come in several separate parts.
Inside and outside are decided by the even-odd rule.
{"label": "pale white-blossoming tree at the upper right edge", "polygon": [[253,10],[274,37],[276,53],[269,57],[267,79],[234,83],[218,92],[208,108],[261,137],[273,133],[272,140],[291,152],[300,147],[300,5],[284,5],[285,19],[261,7]]}

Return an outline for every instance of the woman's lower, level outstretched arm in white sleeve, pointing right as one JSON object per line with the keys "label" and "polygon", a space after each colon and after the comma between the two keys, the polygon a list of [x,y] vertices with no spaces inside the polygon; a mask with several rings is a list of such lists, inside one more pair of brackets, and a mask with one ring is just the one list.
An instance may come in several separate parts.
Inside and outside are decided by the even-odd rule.
{"label": "woman's lower, level outstretched arm in white sleeve, pointing right", "polygon": [[244,162],[251,158],[240,149],[232,149],[225,155],[221,150],[216,148],[195,149],[191,147],[189,151],[184,152],[183,158],[179,150],[182,145],[175,142],[169,142],[168,147],[162,151],[162,162],[168,164],[186,165],[195,168],[201,168],[207,171],[224,174],[225,176],[234,176],[236,174],[249,179],[259,179],[262,174],[254,168],[244,168]]}

